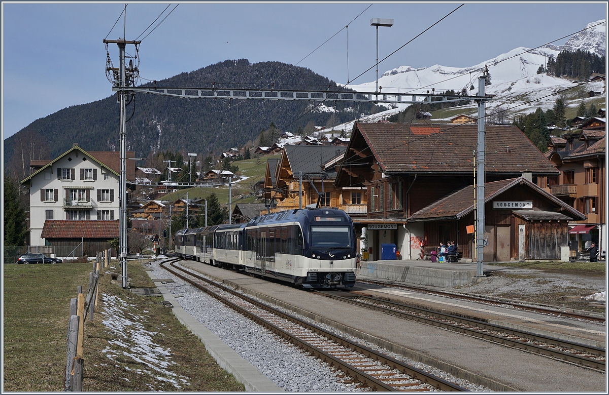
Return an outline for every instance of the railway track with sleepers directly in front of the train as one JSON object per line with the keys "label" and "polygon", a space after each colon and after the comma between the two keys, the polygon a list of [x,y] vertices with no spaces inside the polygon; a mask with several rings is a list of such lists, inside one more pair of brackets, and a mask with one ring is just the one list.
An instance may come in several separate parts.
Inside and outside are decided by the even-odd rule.
{"label": "railway track with sleepers directly in front of the train", "polygon": [[533,332],[519,331],[472,318],[408,306],[381,298],[359,294],[354,295],[344,291],[318,291],[318,293],[359,307],[381,311],[408,320],[419,321],[438,328],[483,338],[491,342],[605,372],[604,348],[569,342],[568,340],[535,334]]}

